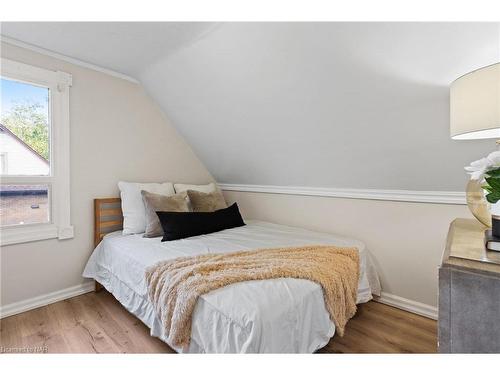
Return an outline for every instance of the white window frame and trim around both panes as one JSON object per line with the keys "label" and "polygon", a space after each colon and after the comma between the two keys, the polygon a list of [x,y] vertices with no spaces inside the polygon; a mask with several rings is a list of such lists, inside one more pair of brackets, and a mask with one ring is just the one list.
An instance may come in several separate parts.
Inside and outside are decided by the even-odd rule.
{"label": "white window frame and trim around both panes", "polygon": [[1,176],[2,184],[48,184],[50,222],[0,228],[0,245],[73,238],[70,218],[69,89],[72,76],[14,60],[0,59],[0,76],[49,88],[50,173],[48,176]]}

